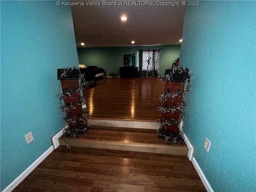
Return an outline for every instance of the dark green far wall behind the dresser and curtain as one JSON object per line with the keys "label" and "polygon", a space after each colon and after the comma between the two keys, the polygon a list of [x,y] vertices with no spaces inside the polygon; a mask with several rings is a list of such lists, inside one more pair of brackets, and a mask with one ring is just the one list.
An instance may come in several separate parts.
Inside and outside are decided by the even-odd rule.
{"label": "dark green far wall behind the dresser and curtain", "polygon": [[125,54],[135,53],[136,66],[138,66],[139,49],[162,49],[160,50],[159,76],[164,75],[165,70],[170,69],[172,63],[180,56],[180,45],[103,47],[78,48],[78,60],[79,64],[104,68],[107,75],[115,72],[120,76],[119,68],[124,66]]}

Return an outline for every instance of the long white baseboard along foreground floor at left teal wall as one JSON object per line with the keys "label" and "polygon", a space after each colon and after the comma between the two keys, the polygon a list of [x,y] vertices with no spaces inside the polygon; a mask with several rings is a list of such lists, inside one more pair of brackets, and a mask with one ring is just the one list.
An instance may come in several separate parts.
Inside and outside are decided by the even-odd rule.
{"label": "long white baseboard along foreground floor at left teal wall", "polygon": [[12,192],[18,184],[20,184],[26,176],[28,176],[52,151],[53,146],[50,146],[37,160],[34,161],[22,174],[20,174],[10,185],[8,185],[2,192]]}

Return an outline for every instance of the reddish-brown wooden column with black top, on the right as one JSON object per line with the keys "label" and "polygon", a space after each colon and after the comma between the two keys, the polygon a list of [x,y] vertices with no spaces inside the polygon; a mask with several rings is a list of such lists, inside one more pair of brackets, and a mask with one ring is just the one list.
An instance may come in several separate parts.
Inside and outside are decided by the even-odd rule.
{"label": "reddish-brown wooden column with black top, on the right", "polygon": [[182,95],[187,79],[188,70],[172,73],[171,78],[165,81],[161,126],[158,136],[174,140],[178,134],[178,123],[180,122],[180,109],[182,108]]}

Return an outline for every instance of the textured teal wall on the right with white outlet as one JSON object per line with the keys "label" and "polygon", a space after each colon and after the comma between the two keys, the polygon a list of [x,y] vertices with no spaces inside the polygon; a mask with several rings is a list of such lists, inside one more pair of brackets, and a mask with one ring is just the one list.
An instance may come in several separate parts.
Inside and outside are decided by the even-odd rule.
{"label": "textured teal wall on the right with white outlet", "polygon": [[184,132],[215,192],[256,191],[255,8],[255,1],[186,6],[180,66],[192,71],[194,86]]}

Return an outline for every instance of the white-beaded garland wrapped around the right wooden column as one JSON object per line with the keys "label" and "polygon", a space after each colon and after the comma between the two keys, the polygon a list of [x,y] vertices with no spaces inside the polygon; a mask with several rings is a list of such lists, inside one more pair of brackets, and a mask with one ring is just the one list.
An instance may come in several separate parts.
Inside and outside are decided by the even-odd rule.
{"label": "white-beaded garland wrapped around the right wooden column", "polygon": [[[170,139],[170,137],[161,134],[160,130],[162,129],[162,126],[179,124],[180,122],[182,122],[184,120],[184,118],[187,116],[186,112],[184,111],[184,108],[188,104],[188,102],[186,101],[185,95],[191,89],[190,87],[193,86],[190,83],[190,77],[192,76],[192,74],[191,74],[191,71],[187,67],[178,67],[178,66],[176,66],[172,70],[172,72],[170,72],[169,74],[164,75],[164,79],[166,79],[167,81],[172,81],[172,79],[173,79],[172,76],[177,71],[180,74],[188,71],[188,76],[187,76],[186,82],[184,84],[184,90],[183,90],[183,93],[182,93],[182,101],[181,101],[180,105],[174,106],[173,108],[165,108],[163,106],[158,107],[158,111],[160,111],[162,113],[173,114],[174,112],[177,112],[178,110],[180,110],[180,116],[179,116],[178,121],[175,120],[175,119],[171,119],[170,121],[167,121],[167,120],[162,120],[160,118],[157,120],[158,123],[160,124],[160,127],[157,130],[157,134],[158,134],[158,136],[160,136],[162,138],[165,138],[166,142],[167,142],[167,140]],[[169,102],[169,101],[172,102],[174,100],[174,97],[180,97],[180,96],[181,96],[181,91],[179,91],[179,90],[176,91],[176,92],[172,92],[172,93],[162,94],[162,95],[160,95],[158,102],[166,102],[166,101],[167,102]],[[177,136],[171,142],[172,143],[180,143],[180,142],[182,142],[182,137],[183,137],[183,132],[182,132],[182,130],[178,129]]]}

